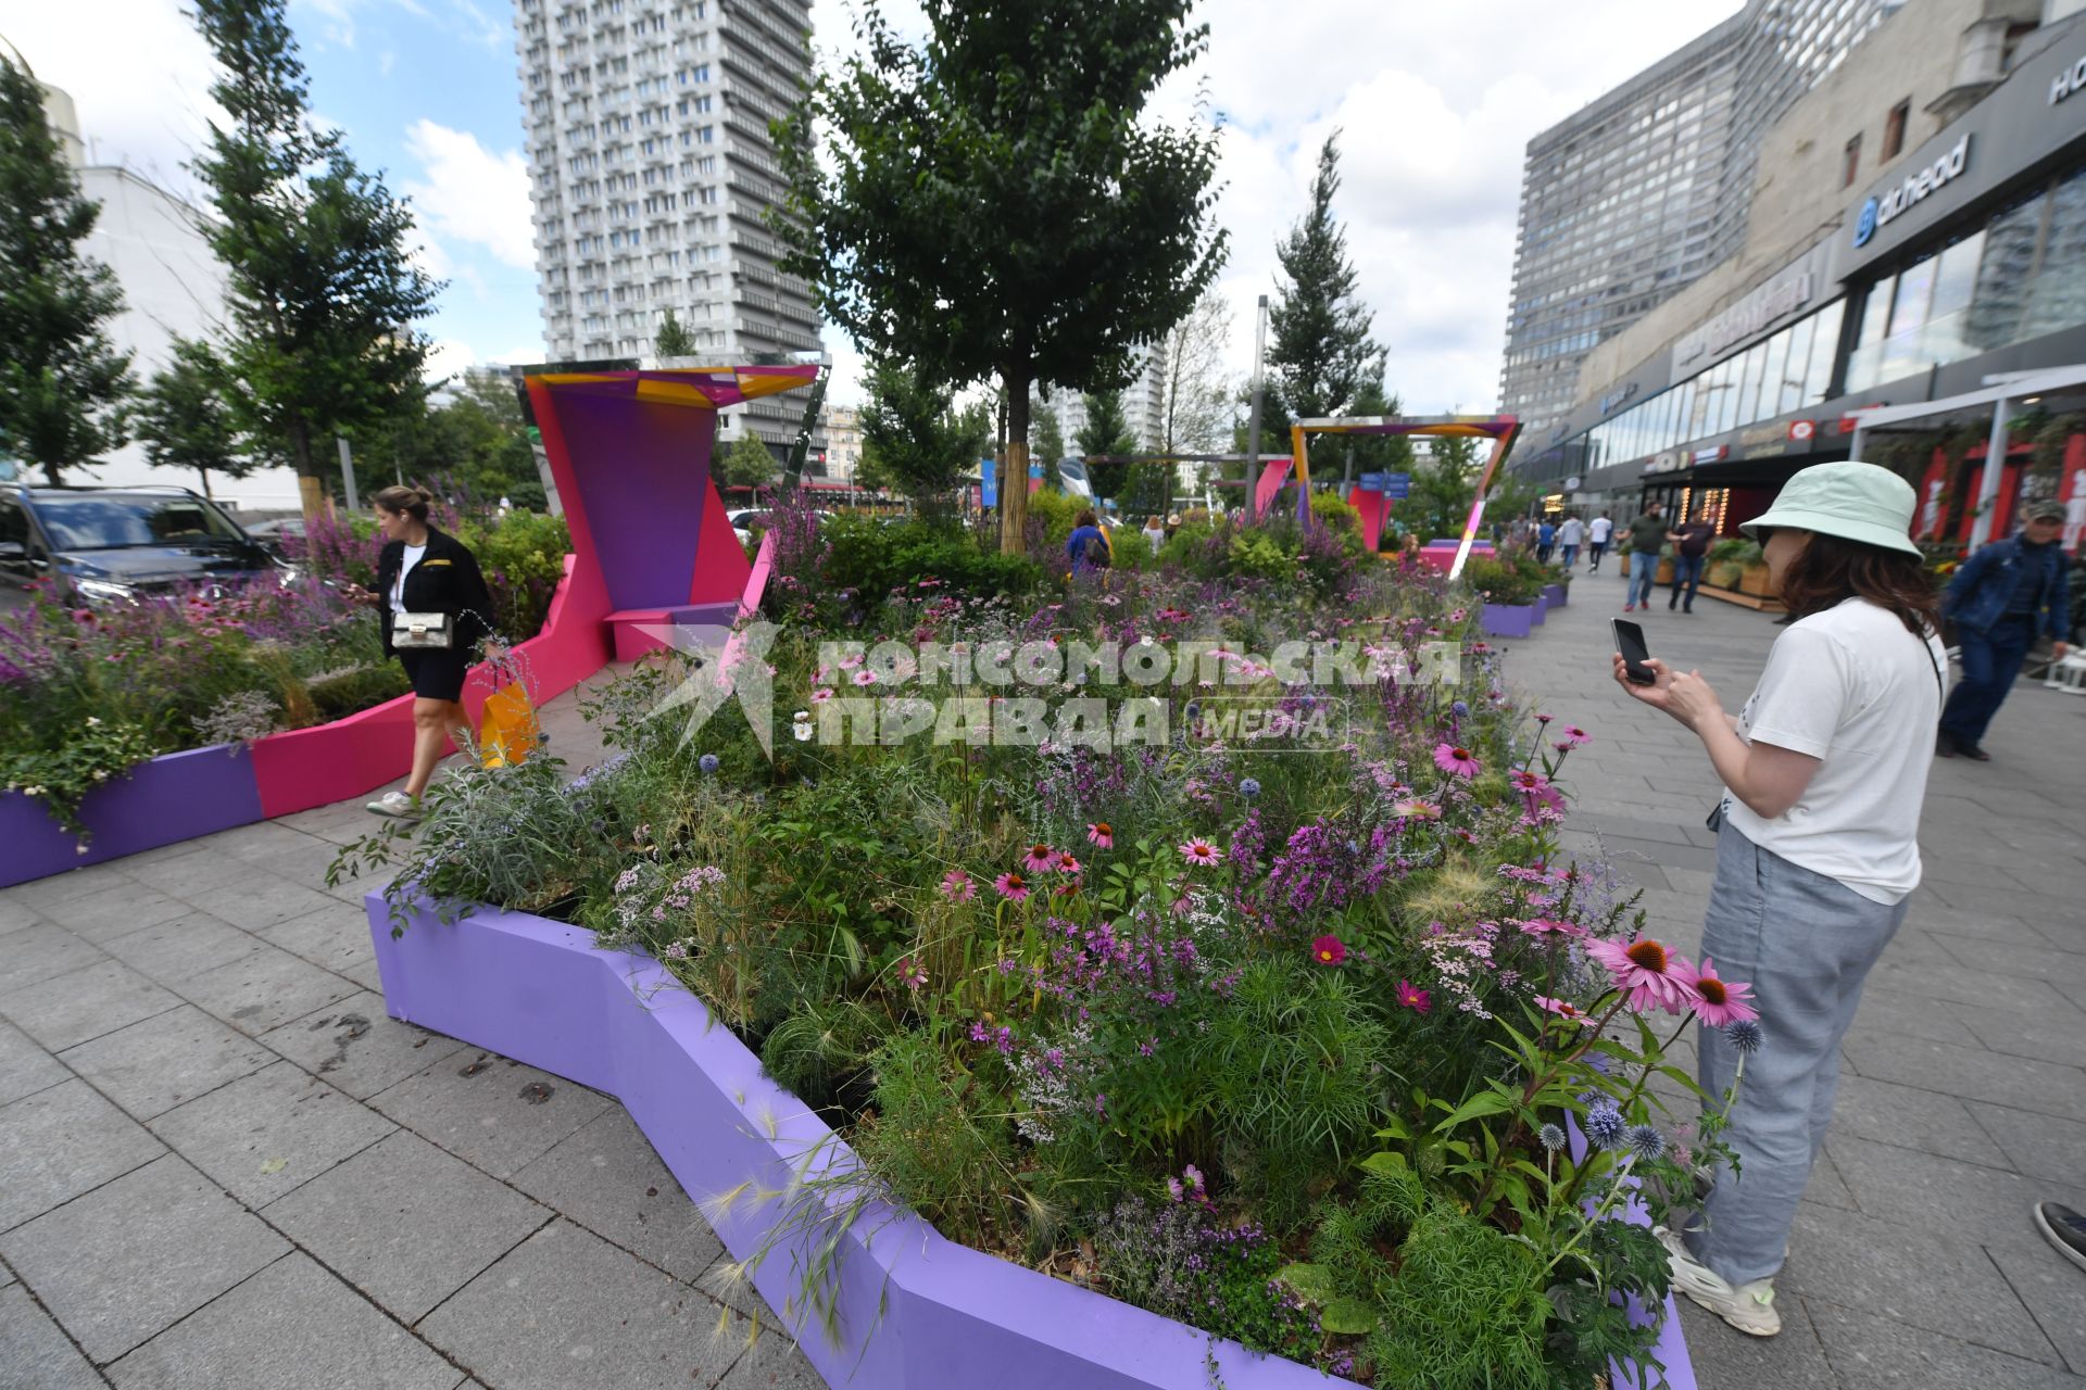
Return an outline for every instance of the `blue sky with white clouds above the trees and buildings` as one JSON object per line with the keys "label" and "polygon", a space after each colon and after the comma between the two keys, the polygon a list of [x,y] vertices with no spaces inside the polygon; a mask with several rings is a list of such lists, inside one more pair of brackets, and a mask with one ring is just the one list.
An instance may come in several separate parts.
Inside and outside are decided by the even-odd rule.
{"label": "blue sky with white clouds above the trees and buildings", "polygon": [[[822,58],[851,48],[859,0],[816,0]],[[909,0],[889,6],[918,27]],[[1738,0],[1202,0],[1208,54],[1154,102],[1220,127],[1216,219],[1227,361],[1252,369],[1254,300],[1277,292],[1277,240],[1308,208],[1318,148],[1339,131],[1360,296],[1406,413],[1498,404],[1521,160],[1531,135],[1738,8]],[[0,0],[0,38],[65,88],[96,163],[173,190],[202,140],[211,63],[179,0]],[[426,325],[434,371],[542,361],[511,4],[290,0],[319,121],[413,200],[415,254],[446,279]],[[1197,96],[1206,98],[1197,108]],[[1199,117],[1197,117],[1199,110]],[[830,400],[859,398],[862,356],[836,329]]]}

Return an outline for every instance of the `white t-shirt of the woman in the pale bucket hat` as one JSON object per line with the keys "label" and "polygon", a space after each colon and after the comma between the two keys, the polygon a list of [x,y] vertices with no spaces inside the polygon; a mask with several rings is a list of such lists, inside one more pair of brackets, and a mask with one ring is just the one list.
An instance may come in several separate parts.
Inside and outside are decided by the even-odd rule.
{"label": "white t-shirt of the woman in the pale bucket hat", "polygon": [[1790,625],[1738,717],[1738,736],[1819,759],[1794,806],[1767,821],[1725,792],[1731,825],[1794,865],[1873,902],[1919,888],[1919,806],[1948,669],[1940,638],[1919,642],[1865,598]]}

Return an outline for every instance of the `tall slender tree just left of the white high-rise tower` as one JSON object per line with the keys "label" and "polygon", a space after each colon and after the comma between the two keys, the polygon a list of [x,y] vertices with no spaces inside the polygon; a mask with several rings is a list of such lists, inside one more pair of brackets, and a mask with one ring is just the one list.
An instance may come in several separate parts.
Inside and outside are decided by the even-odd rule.
{"label": "tall slender tree just left of the white high-rise tower", "polygon": [[217,60],[211,123],[192,169],[227,271],[221,352],[242,390],[234,423],[292,465],[305,515],[325,498],[332,436],[384,429],[421,392],[430,340],[413,325],[440,283],[413,267],[413,215],[382,175],[357,169],[340,131],[309,115],[286,0],[194,0]]}

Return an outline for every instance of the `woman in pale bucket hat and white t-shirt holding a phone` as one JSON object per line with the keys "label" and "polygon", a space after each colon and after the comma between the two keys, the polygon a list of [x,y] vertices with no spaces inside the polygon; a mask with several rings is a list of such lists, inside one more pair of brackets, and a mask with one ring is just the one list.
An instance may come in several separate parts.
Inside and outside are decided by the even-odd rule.
{"label": "woman in pale bucket hat and white t-shirt holding a phone", "polygon": [[[1750,979],[1761,1034],[1700,1029],[1700,1079],[1744,1094],[1702,1219],[1665,1236],[1675,1288],[1740,1332],[1773,1336],[1773,1277],[1832,1121],[1840,1040],[1861,986],[1919,886],[1919,806],[1946,652],[1911,542],[1913,488],[1869,463],[1800,471],[1740,529],[1767,550],[1794,623],[1731,717],[1700,673],[1656,671],[1633,698],[1688,725],[1725,796],[1702,957]],[[1750,1046],[1748,1046],[1750,1044]]]}

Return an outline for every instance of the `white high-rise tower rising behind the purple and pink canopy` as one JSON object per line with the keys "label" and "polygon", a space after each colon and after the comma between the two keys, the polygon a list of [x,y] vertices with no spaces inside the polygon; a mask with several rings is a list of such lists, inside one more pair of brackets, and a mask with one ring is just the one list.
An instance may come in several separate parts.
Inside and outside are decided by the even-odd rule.
{"label": "white high-rise tower rising behind the purple and pink canopy", "polygon": [[[515,0],[536,275],[553,358],[655,356],[668,313],[713,363],[816,352],[805,281],[778,269],[770,121],[811,75],[811,0]],[[749,402],[786,448],[803,402]]]}

